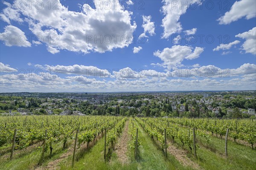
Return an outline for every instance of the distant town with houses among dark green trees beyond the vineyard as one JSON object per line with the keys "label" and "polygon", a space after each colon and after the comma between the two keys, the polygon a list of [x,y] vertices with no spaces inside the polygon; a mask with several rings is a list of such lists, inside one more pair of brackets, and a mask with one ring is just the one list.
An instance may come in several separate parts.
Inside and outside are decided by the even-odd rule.
{"label": "distant town with houses among dark green trees beyond the vineyard", "polygon": [[1,115],[255,118],[256,91],[1,93]]}

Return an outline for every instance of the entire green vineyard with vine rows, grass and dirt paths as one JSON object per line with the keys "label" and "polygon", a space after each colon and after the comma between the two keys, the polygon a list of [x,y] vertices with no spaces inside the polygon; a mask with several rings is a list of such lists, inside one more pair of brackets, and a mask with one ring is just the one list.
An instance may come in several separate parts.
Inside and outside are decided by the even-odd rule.
{"label": "entire green vineyard with vine rows, grass and dirt paths", "polygon": [[1,170],[255,170],[255,144],[253,119],[0,117]]}

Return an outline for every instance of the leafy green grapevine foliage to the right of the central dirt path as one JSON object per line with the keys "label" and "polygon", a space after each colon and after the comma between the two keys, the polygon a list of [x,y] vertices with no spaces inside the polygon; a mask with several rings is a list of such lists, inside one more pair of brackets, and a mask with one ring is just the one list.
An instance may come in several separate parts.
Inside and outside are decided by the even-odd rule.
{"label": "leafy green grapevine foliage to the right of the central dirt path", "polygon": [[219,119],[179,119],[179,118],[144,118],[137,119],[140,125],[148,132],[153,138],[155,137],[164,147],[164,129],[166,129],[167,136],[172,137],[172,141],[175,138],[179,139],[184,145],[187,144],[191,148],[193,136],[192,128],[195,128],[196,135],[204,137],[209,140],[209,132],[216,137],[218,135],[222,139],[226,135],[227,129],[229,129],[230,137],[234,139],[240,139],[247,142],[253,149],[253,144],[256,144],[256,122],[248,122],[248,120],[219,120]]}

